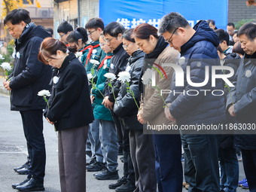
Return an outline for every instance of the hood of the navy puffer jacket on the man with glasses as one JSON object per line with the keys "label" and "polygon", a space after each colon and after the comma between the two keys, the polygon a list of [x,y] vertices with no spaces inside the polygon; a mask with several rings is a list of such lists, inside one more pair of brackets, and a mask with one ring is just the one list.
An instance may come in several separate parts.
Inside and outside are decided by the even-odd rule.
{"label": "hood of the navy puffer jacket on the man with glasses", "polygon": [[192,38],[187,41],[187,43],[181,46],[181,53],[184,53],[199,41],[210,41],[215,47],[218,46],[218,35],[211,28],[209,28],[209,25],[205,20],[200,20],[200,22],[198,22],[193,29],[196,30],[196,32]]}

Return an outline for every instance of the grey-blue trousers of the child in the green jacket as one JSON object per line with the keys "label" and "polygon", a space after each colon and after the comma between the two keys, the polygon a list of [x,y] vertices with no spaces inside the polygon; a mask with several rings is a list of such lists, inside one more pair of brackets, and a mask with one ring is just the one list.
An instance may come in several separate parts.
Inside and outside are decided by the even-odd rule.
{"label": "grey-blue trousers of the child in the green jacket", "polygon": [[99,139],[102,144],[102,154],[107,163],[108,171],[115,172],[118,166],[118,142],[114,122],[99,120]]}

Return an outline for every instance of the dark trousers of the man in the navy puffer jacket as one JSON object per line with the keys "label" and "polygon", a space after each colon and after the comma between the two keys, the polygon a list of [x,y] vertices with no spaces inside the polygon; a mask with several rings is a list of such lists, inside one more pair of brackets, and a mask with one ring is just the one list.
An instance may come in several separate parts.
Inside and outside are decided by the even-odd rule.
{"label": "dark trousers of the man in the navy puffer jacket", "polygon": [[219,192],[220,178],[218,151],[221,137],[218,135],[181,134],[184,149],[185,181],[188,192]]}

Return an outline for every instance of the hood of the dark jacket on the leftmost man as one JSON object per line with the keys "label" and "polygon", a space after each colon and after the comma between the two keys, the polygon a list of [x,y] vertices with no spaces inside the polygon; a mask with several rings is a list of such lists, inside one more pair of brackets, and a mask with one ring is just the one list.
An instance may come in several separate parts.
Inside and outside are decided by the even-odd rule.
{"label": "hood of the dark jacket on the leftmost man", "polygon": [[22,44],[29,38],[33,37],[47,38],[51,37],[50,32],[47,32],[42,26],[36,26],[35,23],[29,23],[23,29],[22,35],[17,39],[17,44]]}

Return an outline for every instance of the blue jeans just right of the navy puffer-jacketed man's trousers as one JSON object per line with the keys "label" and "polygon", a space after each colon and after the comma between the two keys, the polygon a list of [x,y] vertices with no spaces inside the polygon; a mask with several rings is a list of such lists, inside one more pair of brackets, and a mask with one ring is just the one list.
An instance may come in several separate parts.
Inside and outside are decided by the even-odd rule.
{"label": "blue jeans just right of the navy puffer-jacketed man's trousers", "polygon": [[236,149],[221,148],[219,152],[221,167],[221,189],[225,192],[236,192],[239,179],[239,165]]}

